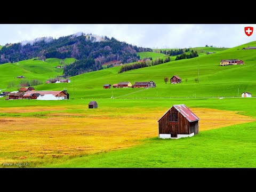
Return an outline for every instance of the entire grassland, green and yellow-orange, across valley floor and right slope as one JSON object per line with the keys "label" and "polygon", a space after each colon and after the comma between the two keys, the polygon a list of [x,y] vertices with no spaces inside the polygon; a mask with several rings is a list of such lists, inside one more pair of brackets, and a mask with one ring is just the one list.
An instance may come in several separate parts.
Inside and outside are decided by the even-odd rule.
{"label": "entire grassland, green and yellow-orange, across valley floor and right slope", "polygon": [[[241,98],[243,91],[256,94],[255,50],[242,50],[247,45],[255,46],[256,41],[121,74],[119,67],[113,67],[71,77],[71,83],[35,86],[36,90],[67,89],[69,100],[0,98],[1,166],[28,162],[29,167],[256,167],[256,99]],[[242,59],[245,65],[219,66],[221,59]],[[60,61],[52,66],[56,62]],[[36,71],[42,78],[47,73],[61,74],[43,75],[36,66],[31,74],[13,75],[12,67],[4,65],[0,70],[9,71],[4,75],[12,79],[18,75],[34,78]],[[181,77],[182,83],[164,82],[164,77],[173,75]],[[5,82],[3,77],[0,80]],[[102,87],[150,80],[155,88]],[[98,109],[88,109],[92,100]],[[199,134],[158,139],[157,119],[177,104],[185,104],[198,115]]]}

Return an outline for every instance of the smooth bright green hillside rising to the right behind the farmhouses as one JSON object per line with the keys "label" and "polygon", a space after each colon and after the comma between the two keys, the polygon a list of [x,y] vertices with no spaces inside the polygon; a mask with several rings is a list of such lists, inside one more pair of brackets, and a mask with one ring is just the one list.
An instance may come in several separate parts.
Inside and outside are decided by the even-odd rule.
{"label": "smooth bright green hillside rising to the right behind the farmhouses", "polygon": [[[249,44],[253,46],[255,43]],[[59,90],[65,86],[70,93],[70,98],[110,98],[112,93],[114,98],[237,97],[243,91],[255,95],[255,50],[242,50],[244,46],[247,45],[215,54],[201,55],[193,59],[171,61],[157,66],[126,71],[122,74],[118,74],[119,67],[93,71],[71,77],[69,84],[43,84],[38,85],[36,89]],[[242,59],[245,65],[219,66],[221,59]],[[198,68],[199,83],[196,83]],[[165,84],[164,77],[170,79],[173,75],[181,77],[182,82],[170,84],[169,81]],[[103,84],[107,83],[130,81],[134,84],[135,81],[150,80],[156,83],[153,89],[102,89]]]}

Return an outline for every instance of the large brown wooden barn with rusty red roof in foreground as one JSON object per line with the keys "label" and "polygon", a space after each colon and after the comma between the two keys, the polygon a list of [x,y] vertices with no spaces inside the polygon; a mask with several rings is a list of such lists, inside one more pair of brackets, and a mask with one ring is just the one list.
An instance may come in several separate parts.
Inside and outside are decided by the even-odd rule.
{"label": "large brown wooden barn with rusty red roof in foreground", "polygon": [[199,118],[184,104],[173,105],[158,119],[158,137],[179,139],[198,133]]}

